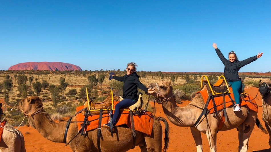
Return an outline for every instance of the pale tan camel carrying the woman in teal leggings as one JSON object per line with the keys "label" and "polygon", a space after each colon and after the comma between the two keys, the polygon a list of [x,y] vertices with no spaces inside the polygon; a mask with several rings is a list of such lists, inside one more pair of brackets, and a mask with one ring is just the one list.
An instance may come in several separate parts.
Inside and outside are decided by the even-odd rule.
{"label": "pale tan camel carrying the woman in teal leggings", "polygon": [[[160,81],[158,87],[160,89],[160,93],[158,98],[161,101],[165,98],[162,102],[163,111],[165,115],[173,124],[181,127],[191,127],[195,124],[197,119],[199,118],[202,109],[204,108],[205,103],[201,96],[201,94],[197,94],[193,100],[185,107],[177,106],[175,99],[173,96],[173,89],[171,87],[171,80],[169,81]],[[158,89],[155,83],[148,85],[147,88],[153,87],[155,89],[155,93],[157,95]],[[162,96],[163,95],[163,96]],[[193,106],[195,105],[195,106]],[[197,107],[200,108],[197,108]],[[226,113],[228,116],[228,121],[225,122],[223,128],[219,131],[231,130],[234,128],[238,128],[238,139],[239,139],[239,146],[238,151],[247,151],[248,149],[248,139],[250,134],[254,128],[255,121],[257,118],[257,112],[250,110],[248,114],[248,110],[246,107],[242,106],[240,112],[233,112],[232,107],[226,108]],[[199,122],[195,127],[191,127],[191,133],[195,140],[197,151],[202,151],[202,140],[201,140],[201,133],[203,132],[207,135],[207,139],[210,145],[210,151],[214,152],[217,151],[216,149],[216,139],[217,139],[217,132],[218,132],[218,124],[221,120],[221,115],[223,110],[219,110],[219,117],[213,117],[212,114],[207,114],[207,118],[204,116],[202,117],[202,121]],[[208,120],[208,123],[207,123]]]}

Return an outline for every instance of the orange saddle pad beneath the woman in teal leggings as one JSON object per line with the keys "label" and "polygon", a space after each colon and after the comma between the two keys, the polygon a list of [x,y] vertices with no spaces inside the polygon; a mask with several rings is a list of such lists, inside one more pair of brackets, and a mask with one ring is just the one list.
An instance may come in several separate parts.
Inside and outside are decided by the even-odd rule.
{"label": "orange saddle pad beneath the woman in teal leggings", "polygon": [[[231,87],[230,87],[230,90],[232,90]],[[197,92],[196,94],[198,94],[198,93],[201,94],[201,96],[203,97],[204,102],[206,103],[207,98],[208,98],[208,92],[207,92],[207,90],[206,89],[205,90],[201,90],[201,91]],[[234,100],[233,93],[230,93],[230,96],[231,96],[232,100]],[[218,110],[222,110],[223,109],[223,96],[221,95],[221,96],[218,96],[218,97],[214,97],[214,99],[215,99],[215,104],[217,105],[217,111]],[[246,96],[246,97],[244,97],[244,100],[249,100],[249,99],[250,99],[249,95]],[[210,99],[210,100],[212,100],[212,99]],[[258,107],[256,106],[256,101],[255,100],[251,101],[255,105],[252,104],[252,103],[250,103],[250,102],[248,102],[248,101],[244,101],[244,100],[242,100],[242,98],[240,97],[240,104],[241,104],[241,106],[246,105],[246,107],[249,110],[253,110],[255,112],[258,112]],[[230,98],[229,98],[229,96],[227,94],[225,94],[225,102],[226,102],[226,107],[232,106],[232,102],[231,102],[231,100],[230,100]],[[214,107],[213,102],[210,101],[209,104],[208,104],[208,106],[207,106],[207,109],[209,109],[209,110],[212,108],[210,110],[210,114],[212,114],[213,111],[214,111],[213,107]]]}

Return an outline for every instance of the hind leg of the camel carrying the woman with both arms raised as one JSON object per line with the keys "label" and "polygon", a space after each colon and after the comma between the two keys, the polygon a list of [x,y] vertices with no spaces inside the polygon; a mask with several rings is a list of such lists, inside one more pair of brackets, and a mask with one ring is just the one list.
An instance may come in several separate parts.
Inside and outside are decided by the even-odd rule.
{"label": "hind leg of the camel carrying the woman with both arms raised", "polygon": [[238,139],[239,146],[238,151],[247,152],[248,151],[248,139],[252,133],[256,122],[257,112],[250,111],[250,114],[246,117],[245,121],[238,126]]}

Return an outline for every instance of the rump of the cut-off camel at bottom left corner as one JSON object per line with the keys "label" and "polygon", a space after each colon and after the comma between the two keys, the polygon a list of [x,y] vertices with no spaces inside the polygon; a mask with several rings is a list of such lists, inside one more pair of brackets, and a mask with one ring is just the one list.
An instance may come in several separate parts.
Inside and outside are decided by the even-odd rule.
{"label": "rump of the cut-off camel at bottom left corner", "polygon": [[4,128],[0,141],[0,152],[25,152],[25,140],[22,133],[19,130],[15,130],[7,122]]}

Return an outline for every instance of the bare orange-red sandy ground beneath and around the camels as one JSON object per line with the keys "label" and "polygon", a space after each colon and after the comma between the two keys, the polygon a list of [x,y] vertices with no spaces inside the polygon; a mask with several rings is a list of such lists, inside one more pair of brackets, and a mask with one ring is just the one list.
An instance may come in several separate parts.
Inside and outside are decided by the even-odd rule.
{"label": "bare orange-red sandy ground beneath and around the camels", "polygon": [[[248,93],[254,97],[258,91],[258,88],[252,87],[246,89]],[[255,99],[258,105],[262,105],[260,95]],[[180,106],[185,106],[189,101],[183,101]],[[166,118],[162,106],[155,104],[156,116],[162,116]],[[262,107],[258,108],[258,118],[264,126],[262,121]],[[169,120],[167,120],[169,122]],[[163,122],[161,122],[164,127]],[[170,144],[168,152],[173,151],[196,151],[196,146],[189,127],[178,127],[169,122],[170,127]],[[54,143],[41,136],[37,130],[32,127],[23,126],[19,130],[23,133],[25,138],[25,147],[28,152],[31,151],[72,151],[69,146],[65,146],[64,143]],[[164,136],[163,136],[164,138]],[[206,135],[202,133],[203,139],[203,151],[209,151],[209,144]],[[255,152],[269,152],[270,146],[268,145],[269,135],[263,133],[255,125],[254,130],[250,136],[248,151]],[[140,151],[139,146],[135,149],[130,149],[129,152]],[[238,132],[236,129],[219,132],[217,134],[217,151],[238,151]]]}

